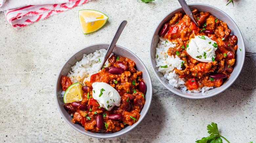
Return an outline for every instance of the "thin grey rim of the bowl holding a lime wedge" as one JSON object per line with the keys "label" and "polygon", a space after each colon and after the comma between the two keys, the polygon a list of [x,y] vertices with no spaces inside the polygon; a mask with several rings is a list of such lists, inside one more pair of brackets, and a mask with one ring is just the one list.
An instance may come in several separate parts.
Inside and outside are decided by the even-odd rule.
{"label": "thin grey rim of the bowl holding a lime wedge", "polygon": [[[55,83],[55,100],[56,100],[56,104],[57,104],[58,110],[59,110],[61,116],[63,117],[63,119],[64,119],[72,128],[74,128],[76,131],[78,131],[78,132],[80,132],[80,133],[82,133],[82,134],[84,134],[84,135],[88,135],[88,136],[96,137],[96,138],[111,138],[111,137],[117,137],[117,136],[119,136],[119,135],[123,135],[123,134],[125,134],[125,133],[127,133],[127,132],[133,130],[137,125],[139,125],[139,123],[140,123],[140,122],[144,119],[144,117],[147,115],[147,112],[148,112],[149,107],[150,107],[150,105],[151,105],[152,96],[153,96],[153,87],[152,87],[152,81],[151,81],[150,74],[149,74],[149,72],[148,72],[146,66],[144,65],[144,63],[143,63],[143,62],[140,60],[140,58],[139,58],[137,55],[135,55],[132,51],[130,51],[130,50],[128,50],[128,49],[126,49],[126,48],[124,48],[124,47],[122,47],[122,46],[116,45],[117,47],[119,47],[119,48],[121,48],[121,49],[124,49],[124,50],[130,52],[135,58],[138,59],[138,61],[142,64],[142,68],[145,69],[146,74],[149,76],[149,81],[148,81],[148,83],[149,83],[149,85],[151,85],[151,86],[150,86],[150,87],[147,87],[147,89],[149,89],[149,94],[147,95],[147,98],[149,98],[149,99],[148,99],[149,102],[148,102],[148,104],[147,104],[146,106],[144,105],[143,108],[142,108],[142,110],[143,110],[143,109],[145,110],[144,116],[140,116],[140,117],[139,117],[139,120],[138,120],[135,124],[131,125],[132,127],[130,127],[128,130],[126,130],[126,131],[120,130],[120,131],[118,131],[118,132],[113,132],[113,133],[103,133],[103,134],[108,134],[108,136],[103,136],[103,137],[100,136],[100,135],[98,135],[98,134],[88,134],[87,132],[84,132],[84,131],[86,131],[86,130],[81,131],[81,130],[75,128],[74,123],[71,123],[70,120],[68,120],[68,119],[64,116],[64,114],[61,112],[60,105],[59,105],[59,103],[58,103],[57,85],[59,84],[59,83],[58,83],[58,79],[59,79],[59,77],[60,77],[61,71],[64,69],[65,65],[68,63],[68,61],[69,61],[73,56],[75,56],[77,53],[81,52],[82,50],[84,50],[84,49],[86,49],[86,48],[89,48],[89,47],[91,47],[91,46],[95,46],[95,45],[110,45],[110,44],[109,44],[109,43],[96,43],[96,44],[91,44],[91,45],[85,46],[85,47],[79,49],[78,51],[76,51],[72,56],[70,56],[70,57],[66,60],[66,62],[65,62],[65,63],[62,65],[62,67],[60,68],[60,71],[58,72],[58,75],[57,75],[57,77],[56,77],[56,83]],[[142,111],[142,110],[141,110],[141,111]],[[140,112],[140,113],[141,113],[141,112]],[[140,115],[141,115],[141,114],[140,114]],[[122,131],[123,131],[123,132],[122,132]],[[90,132],[90,131],[88,131],[88,132]],[[94,132],[90,132],[90,133],[94,133]],[[96,133],[97,133],[97,132],[96,132]]]}

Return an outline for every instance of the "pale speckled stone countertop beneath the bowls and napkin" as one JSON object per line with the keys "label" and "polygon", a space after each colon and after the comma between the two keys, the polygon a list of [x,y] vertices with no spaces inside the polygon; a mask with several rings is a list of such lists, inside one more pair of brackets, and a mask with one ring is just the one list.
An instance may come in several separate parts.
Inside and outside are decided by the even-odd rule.
{"label": "pale speckled stone countertop beneath the bowls and napkin", "polygon": [[[245,64],[234,84],[219,95],[192,100],[163,87],[149,62],[149,45],[159,21],[180,7],[176,0],[92,0],[14,30],[0,13],[0,142],[180,142],[193,143],[208,135],[206,126],[218,124],[231,143],[256,142],[256,3],[226,0],[204,3],[226,12],[240,28],[245,41]],[[84,35],[78,10],[95,9],[109,16],[100,30]],[[117,44],[136,53],[153,82],[153,100],[143,121],[127,134],[98,139],[83,135],[60,115],[54,95],[57,74],[77,50],[109,43],[122,20],[128,24]]]}

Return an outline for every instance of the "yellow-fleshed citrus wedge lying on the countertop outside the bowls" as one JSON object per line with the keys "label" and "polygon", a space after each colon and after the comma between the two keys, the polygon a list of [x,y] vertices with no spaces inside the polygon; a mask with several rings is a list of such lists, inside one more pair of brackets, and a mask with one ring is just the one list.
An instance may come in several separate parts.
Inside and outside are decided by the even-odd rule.
{"label": "yellow-fleshed citrus wedge lying on the countertop outside the bowls", "polygon": [[79,10],[78,16],[84,34],[99,30],[108,20],[104,13],[91,9]]}

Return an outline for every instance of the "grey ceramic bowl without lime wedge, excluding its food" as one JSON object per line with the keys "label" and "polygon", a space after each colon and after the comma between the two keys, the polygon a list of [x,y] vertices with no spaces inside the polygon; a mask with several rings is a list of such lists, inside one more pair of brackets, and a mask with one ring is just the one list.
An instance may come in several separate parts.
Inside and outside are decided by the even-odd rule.
{"label": "grey ceramic bowl without lime wedge, excluding its food", "polygon": [[[182,96],[185,98],[191,98],[191,99],[208,98],[208,97],[211,97],[211,96],[214,96],[214,95],[217,95],[217,94],[223,92],[225,89],[227,89],[229,86],[231,86],[234,83],[234,81],[237,79],[238,75],[240,74],[240,72],[242,70],[242,67],[243,67],[244,61],[245,61],[245,43],[243,40],[243,36],[242,36],[238,26],[236,25],[236,23],[222,10],[215,8],[213,6],[205,5],[205,4],[190,4],[189,8],[190,8],[190,10],[193,10],[196,8],[199,11],[209,11],[213,16],[215,16],[218,19],[225,22],[227,24],[227,26],[229,27],[229,29],[232,30],[231,33],[233,35],[237,36],[238,50],[236,51],[236,62],[234,65],[234,71],[231,73],[230,77],[225,81],[225,83],[221,87],[210,89],[204,94],[202,94],[201,92],[200,93],[192,92],[191,94],[189,94],[188,91],[182,92],[180,90],[180,88],[171,86],[168,83],[168,80],[164,79],[163,74],[158,71],[158,68],[156,68],[156,61],[155,61],[156,47],[157,47],[157,44],[159,43],[158,33],[161,30],[161,28],[163,27],[163,25],[166,22],[168,22],[174,16],[174,14],[176,12],[180,11],[181,13],[185,13],[182,8],[177,8],[177,9],[172,10],[157,25],[157,27],[153,33],[151,43],[150,43],[150,50],[149,50],[150,62],[151,62],[151,66],[152,66],[153,71],[154,71],[155,75],[157,76],[158,80],[161,82],[161,84],[163,86],[165,86],[171,92],[173,92],[179,96]],[[241,51],[239,50],[239,48],[241,49]],[[162,80],[161,78],[164,80]]]}

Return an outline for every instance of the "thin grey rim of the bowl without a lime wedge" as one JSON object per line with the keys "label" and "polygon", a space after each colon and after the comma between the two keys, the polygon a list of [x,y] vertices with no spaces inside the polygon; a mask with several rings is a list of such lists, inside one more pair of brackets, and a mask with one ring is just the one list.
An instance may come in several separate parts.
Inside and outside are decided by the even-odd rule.
{"label": "thin grey rim of the bowl without a lime wedge", "polygon": [[[151,47],[152,47],[152,44],[153,44],[154,34],[156,33],[157,28],[160,26],[161,22],[162,22],[168,15],[170,15],[172,12],[174,12],[174,11],[180,9],[181,7],[178,7],[178,8],[175,8],[175,9],[171,10],[167,15],[165,15],[165,16],[160,20],[160,22],[159,22],[158,25],[156,26],[156,28],[155,28],[155,30],[154,30],[154,32],[153,32],[153,35],[152,35],[152,38],[151,38],[151,41],[150,41],[150,47],[149,47],[149,59],[150,59],[150,64],[151,64],[151,68],[153,69],[153,72],[155,73],[155,76],[157,77],[157,79],[160,81],[160,83],[161,83],[164,87],[166,87],[168,90],[170,90],[170,91],[173,92],[174,94],[177,94],[177,95],[179,95],[179,96],[181,96],[181,97],[190,98],[190,99],[204,99],[204,98],[209,98],[209,97],[215,96],[215,95],[217,95],[217,94],[223,92],[223,91],[226,90],[228,87],[230,87],[230,86],[235,82],[235,80],[238,78],[239,74],[240,74],[241,71],[242,71],[244,62],[245,62],[245,42],[244,42],[243,35],[242,35],[242,33],[241,33],[239,27],[237,26],[237,24],[234,22],[234,20],[233,20],[229,15],[227,15],[227,14],[226,14],[224,11],[222,11],[221,9],[216,8],[216,7],[213,7],[213,6],[210,6],[210,5],[207,5],[207,4],[199,4],[199,3],[188,4],[188,6],[206,6],[206,7],[214,8],[214,9],[220,11],[223,15],[225,15],[225,16],[228,17],[228,18],[230,18],[231,22],[232,22],[232,23],[234,24],[234,26],[238,29],[238,31],[237,31],[237,32],[238,32],[238,35],[241,36],[241,38],[242,38],[242,40],[241,40],[240,42],[241,42],[241,44],[243,45],[243,47],[241,47],[241,49],[243,50],[243,53],[241,53],[241,54],[243,54],[243,57],[244,57],[244,58],[243,58],[243,61],[242,61],[242,66],[239,67],[239,69],[238,69],[238,70],[239,70],[238,74],[237,74],[236,77],[231,81],[231,83],[230,83],[226,88],[224,88],[224,89],[222,89],[222,90],[218,90],[217,92],[215,92],[215,93],[212,94],[212,95],[205,95],[205,96],[187,96],[187,95],[181,94],[181,93],[179,93],[179,92],[177,92],[177,91],[171,89],[170,87],[168,87],[168,86],[160,79],[160,77],[157,75],[157,72],[156,72],[155,69],[154,69],[155,67],[153,66],[153,60],[152,60],[152,58],[151,58],[151,55],[152,55],[152,53],[151,53]],[[236,35],[237,35],[237,34],[236,34]],[[174,88],[177,88],[177,87],[174,87]],[[213,89],[214,89],[214,88],[213,88]]]}

